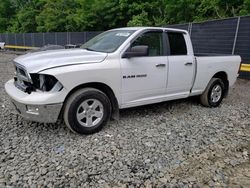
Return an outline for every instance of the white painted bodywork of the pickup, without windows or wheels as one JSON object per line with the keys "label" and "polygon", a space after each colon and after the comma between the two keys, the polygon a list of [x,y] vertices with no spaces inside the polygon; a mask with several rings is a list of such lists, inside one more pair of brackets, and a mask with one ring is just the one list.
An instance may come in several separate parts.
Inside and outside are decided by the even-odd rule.
{"label": "white painted bodywork of the pickup, without windows or wheels", "polygon": [[[124,28],[128,29],[128,28]],[[130,28],[131,29],[131,28]],[[90,52],[85,49],[51,50],[26,54],[15,59],[28,73],[53,75],[63,85],[59,92],[24,93],[13,80],[6,83],[7,93],[14,100],[31,105],[64,103],[69,92],[85,83],[103,83],[115,94],[119,108],[200,95],[210,79],[225,72],[229,85],[238,76],[240,56],[195,57],[189,34],[168,28],[133,28],[136,30],[115,52]],[[130,42],[145,29],[185,33],[187,55],[122,58]],[[192,65],[186,66],[187,62]],[[165,64],[165,67],[156,67]],[[146,77],[123,79],[124,75],[146,74]]]}

